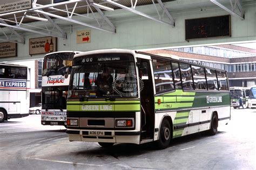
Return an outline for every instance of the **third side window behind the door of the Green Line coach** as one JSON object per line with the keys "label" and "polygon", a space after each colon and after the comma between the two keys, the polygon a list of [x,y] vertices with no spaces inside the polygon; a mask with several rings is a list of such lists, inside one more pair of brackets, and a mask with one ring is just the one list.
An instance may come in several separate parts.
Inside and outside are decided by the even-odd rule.
{"label": "third side window behind the door of the Green Line coach", "polygon": [[194,89],[190,65],[187,63],[180,63],[179,66],[183,89]]}

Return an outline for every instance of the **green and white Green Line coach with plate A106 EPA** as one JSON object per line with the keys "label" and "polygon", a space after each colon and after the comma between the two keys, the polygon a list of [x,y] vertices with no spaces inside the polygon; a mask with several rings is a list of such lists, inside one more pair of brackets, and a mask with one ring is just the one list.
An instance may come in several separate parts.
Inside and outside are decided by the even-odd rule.
{"label": "green and white Green Line coach with plate A106 EPA", "polygon": [[70,141],[143,144],[217,133],[230,120],[225,70],[125,49],[76,54],[66,133]]}

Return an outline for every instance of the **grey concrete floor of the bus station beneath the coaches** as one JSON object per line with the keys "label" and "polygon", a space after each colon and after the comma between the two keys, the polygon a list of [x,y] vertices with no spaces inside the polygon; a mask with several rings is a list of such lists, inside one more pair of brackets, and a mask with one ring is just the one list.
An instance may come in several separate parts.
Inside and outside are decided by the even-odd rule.
{"label": "grey concrete floor of the bus station beneath the coaches", "polygon": [[40,119],[0,124],[0,169],[256,169],[256,109],[232,109],[231,122],[215,136],[181,137],[165,150],[70,142],[64,127],[43,126]]}

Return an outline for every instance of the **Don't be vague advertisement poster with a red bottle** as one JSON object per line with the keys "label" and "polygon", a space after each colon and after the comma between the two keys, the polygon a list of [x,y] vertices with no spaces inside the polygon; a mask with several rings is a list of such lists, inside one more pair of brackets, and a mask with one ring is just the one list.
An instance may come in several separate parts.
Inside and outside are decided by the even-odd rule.
{"label": "Don't be vague advertisement poster with a red bottle", "polygon": [[44,54],[57,51],[56,37],[42,37],[29,39],[29,54]]}

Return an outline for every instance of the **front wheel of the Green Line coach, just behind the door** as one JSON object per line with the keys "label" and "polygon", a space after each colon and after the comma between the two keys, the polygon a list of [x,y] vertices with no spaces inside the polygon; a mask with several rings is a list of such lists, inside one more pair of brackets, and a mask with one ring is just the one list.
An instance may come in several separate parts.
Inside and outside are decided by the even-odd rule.
{"label": "front wheel of the Green Line coach, just behind the door", "polygon": [[157,148],[164,149],[169,146],[172,137],[172,131],[169,121],[164,119],[161,123],[161,128],[159,131],[159,140],[157,140]]}

